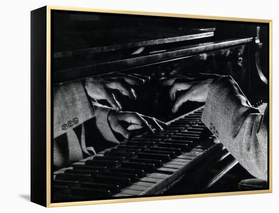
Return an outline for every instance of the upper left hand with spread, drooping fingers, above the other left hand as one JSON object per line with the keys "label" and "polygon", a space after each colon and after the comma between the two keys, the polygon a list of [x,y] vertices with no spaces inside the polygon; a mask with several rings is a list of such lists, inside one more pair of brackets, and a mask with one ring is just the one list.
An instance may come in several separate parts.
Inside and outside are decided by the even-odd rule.
{"label": "upper left hand with spread, drooping fingers, above the other left hand", "polygon": [[135,100],[136,94],[131,85],[143,85],[145,81],[143,76],[118,73],[106,75],[102,78],[88,78],[85,82],[85,89],[91,98],[95,100],[105,99],[115,110],[120,111],[122,107],[115,97],[113,90],[118,90],[122,95]]}

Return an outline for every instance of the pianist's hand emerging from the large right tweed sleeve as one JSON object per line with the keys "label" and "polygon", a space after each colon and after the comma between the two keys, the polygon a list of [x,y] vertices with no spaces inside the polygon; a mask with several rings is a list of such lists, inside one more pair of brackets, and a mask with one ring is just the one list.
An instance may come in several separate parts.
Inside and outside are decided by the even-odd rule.
{"label": "pianist's hand emerging from the large right tweed sleeve", "polygon": [[[172,107],[172,113],[176,113],[180,106],[188,100],[205,102],[212,82],[220,77],[222,76],[216,74],[191,74],[164,79],[162,84],[171,86],[169,90],[170,99],[176,99]],[[183,91],[183,93],[176,98],[177,91]]]}

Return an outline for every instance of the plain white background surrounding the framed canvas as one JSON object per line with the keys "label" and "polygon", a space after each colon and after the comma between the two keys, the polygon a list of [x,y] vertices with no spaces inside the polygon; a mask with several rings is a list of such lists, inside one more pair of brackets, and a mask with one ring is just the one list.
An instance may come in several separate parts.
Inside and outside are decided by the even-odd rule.
{"label": "plain white background surrounding the framed canvas", "polygon": [[[278,206],[278,7],[276,1],[37,0],[1,2],[0,208],[2,212],[274,212]],[[30,11],[45,5],[273,20],[273,193],[46,209],[30,203]],[[44,112],[42,112],[44,113]],[[38,141],[39,142],[39,141]],[[277,207],[278,209],[278,207]]]}

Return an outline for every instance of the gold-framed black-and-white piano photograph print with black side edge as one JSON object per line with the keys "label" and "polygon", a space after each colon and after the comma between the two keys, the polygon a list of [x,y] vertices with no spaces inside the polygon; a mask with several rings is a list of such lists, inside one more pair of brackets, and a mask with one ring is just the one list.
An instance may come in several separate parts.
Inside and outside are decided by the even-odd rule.
{"label": "gold-framed black-and-white piano photograph print with black side edge", "polygon": [[31,201],[272,191],[272,21],[31,11]]}

